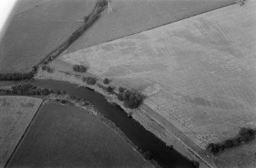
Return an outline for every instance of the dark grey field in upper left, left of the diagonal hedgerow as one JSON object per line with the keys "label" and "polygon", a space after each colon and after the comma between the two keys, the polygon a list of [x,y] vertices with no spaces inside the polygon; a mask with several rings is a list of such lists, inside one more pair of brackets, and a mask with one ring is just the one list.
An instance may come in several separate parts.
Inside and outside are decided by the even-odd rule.
{"label": "dark grey field in upper left, left of the diagonal hedgerow", "polygon": [[0,42],[0,73],[30,71],[83,24],[95,5],[93,0],[43,2],[21,0]]}

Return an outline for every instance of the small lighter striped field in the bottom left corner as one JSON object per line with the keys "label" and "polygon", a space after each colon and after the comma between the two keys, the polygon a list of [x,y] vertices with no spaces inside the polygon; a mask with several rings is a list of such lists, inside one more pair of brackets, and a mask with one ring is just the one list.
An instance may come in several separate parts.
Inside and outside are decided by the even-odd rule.
{"label": "small lighter striped field in the bottom left corner", "polygon": [[0,167],[5,166],[42,100],[0,96]]}

